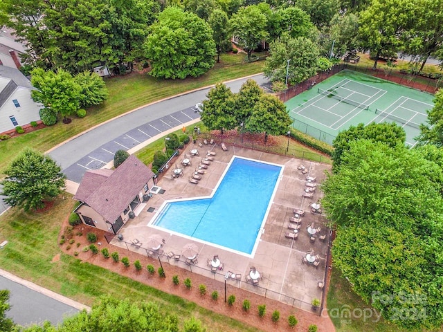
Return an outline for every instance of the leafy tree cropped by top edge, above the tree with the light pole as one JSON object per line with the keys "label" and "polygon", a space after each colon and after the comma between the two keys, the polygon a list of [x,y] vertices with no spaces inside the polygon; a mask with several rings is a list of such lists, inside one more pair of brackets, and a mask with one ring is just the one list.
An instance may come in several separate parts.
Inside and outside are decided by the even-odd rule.
{"label": "leafy tree cropped by top edge, above the tree with the light pole", "polygon": [[296,0],[296,6],[307,12],[316,26],[327,26],[340,9],[340,0]]}

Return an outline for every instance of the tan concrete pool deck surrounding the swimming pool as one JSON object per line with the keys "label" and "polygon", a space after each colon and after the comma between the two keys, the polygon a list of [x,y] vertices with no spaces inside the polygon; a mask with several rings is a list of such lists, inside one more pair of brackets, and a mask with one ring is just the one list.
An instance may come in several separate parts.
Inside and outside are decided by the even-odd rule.
{"label": "tan concrete pool deck surrounding the swimming pool", "polygon": [[[120,230],[124,241],[118,241],[115,237],[111,243],[116,246],[127,247],[134,252],[140,252],[142,255],[147,255],[149,248],[145,248],[143,244],[137,248],[132,245],[128,246],[128,243],[132,243],[133,239],[138,239],[141,243],[147,243],[150,235],[161,234],[163,239],[165,239],[165,245],[162,248],[165,255],[161,257],[162,261],[192,270],[192,273],[199,273],[200,275],[217,279],[220,282],[224,282],[228,271],[241,274],[241,282],[235,279],[228,279],[228,282],[233,286],[262,295],[266,293],[266,297],[278,299],[281,302],[304,310],[310,310],[311,299],[321,299],[323,295],[323,290],[318,288],[318,282],[324,281],[328,269],[325,259],[329,243],[329,229],[326,228],[324,216],[311,213],[309,204],[315,203],[320,199],[320,183],[325,178],[325,170],[330,170],[331,166],[237,147],[228,147],[228,151],[223,151],[219,145],[197,147],[200,156],[191,157],[192,165],[188,167],[180,166],[184,154],[189,155],[189,150],[194,148],[194,145],[191,143],[186,151],[181,151],[181,156],[177,158],[177,166],[183,169],[183,176],[172,178],[173,166],[171,165],[170,169],[166,171],[166,174],[157,183],[165,192],[163,194],[154,194],[149,201],[143,203],[146,205],[141,205],[143,210],[134,219],[127,221],[122,230]],[[198,184],[189,183],[188,178],[195,171],[195,168],[198,167],[202,158],[206,156],[208,149],[212,149],[216,153],[216,156],[214,156],[215,160],[210,163]],[[219,182],[233,155],[284,166],[282,177],[278,181],[278,189],[266,218],[264,230],[257,230],[257,232],[262,232],[262,234],[253,258],[239,255],[230,250],[210,246],[198,240],[192,241],[186,237],[154,229],[147,225],[155,216],[155,212],[167,200],[209,196]],[[302,174],[297,169],[300,164],[307,167],[307,174]],[[315,176],[317,183],[314,197],[310,199],[302,197],[306,176],[308,175]],[[251,199],[253,198],[251,197]],[[154,212],[147,212],[148,208],[151,208],[150,210],[154,210]],[[305,216],[302,217],[302,227],[299,230],[300,234],[296,240],[287,239],[284,236],[286,232],[292,232],[288,230],[288,225],[289,217],[293,216],[294,208],[305,210]],[[319,241],[318,237],[314,243],[309,241],[306,228],[311,223],[314,223],[315,227],[320,226],[322,228],[319,234],[327,236],[325,241]],[[195,266],[186,265],[186,258],[183,256],[180,261],[168,259],[166,256],[168,252],[181,255],[183,246],[190,242],[195,243],[199,248],[198,263]],[[318,268],[302,264],[302,257],[310,249],[314,250],[315,255],[320,255],[320,266]],[[224,269],[217,270],[217,273],[211,272],[210,266],[207,264],[208,259],[212,259],[214,255],[219,255],[221,262],[224,264]],[[253,286],[246,282],[245,277],[248,275],[251,266],[254,266],[262,273],[262,280],[260,280],[258,286]]]}

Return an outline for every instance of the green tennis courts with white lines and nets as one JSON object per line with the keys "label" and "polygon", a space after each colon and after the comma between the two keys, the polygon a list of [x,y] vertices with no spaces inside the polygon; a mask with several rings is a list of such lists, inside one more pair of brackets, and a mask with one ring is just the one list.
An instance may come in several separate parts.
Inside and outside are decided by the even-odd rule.
{"label": "green tennis courts with white lines and nets", "polygon": [[285,104],[293,127],[332,144],[338,132],[359,123],[396,122],[415,145],[419,124],[434,96],[354,71],[341,71]]}

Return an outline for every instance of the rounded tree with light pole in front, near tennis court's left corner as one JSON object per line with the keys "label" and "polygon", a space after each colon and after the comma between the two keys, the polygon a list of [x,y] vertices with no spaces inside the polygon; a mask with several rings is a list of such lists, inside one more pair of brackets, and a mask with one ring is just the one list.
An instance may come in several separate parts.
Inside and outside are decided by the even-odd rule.
{"label": "rounded tree with light pole in front, near tennis court's left corner", "polygon": [[272,82],[285,82],[288,74],[288,83],[298,84],[317,73],[320,51],[306,37],[291,38],[284,33],[280,39],[271,43],[269,53],[263,71]]}

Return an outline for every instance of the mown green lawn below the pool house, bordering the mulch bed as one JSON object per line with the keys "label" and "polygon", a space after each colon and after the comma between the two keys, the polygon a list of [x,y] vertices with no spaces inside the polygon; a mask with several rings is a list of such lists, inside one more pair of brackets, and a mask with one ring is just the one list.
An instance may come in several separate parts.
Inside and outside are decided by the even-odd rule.
{"label": "mown green lawn below the pool house, bordering the mulch bed", "polygon": [[[181,324],[194,315],[206,326],[211,326],[211,331],[256,331],[186,299],[61,253],[57,235],[60,224],[72,208],[71,196],[65,194],[65,199],[57,199],[47,212],[26,214],[22,210],[11,209],[0,216],[1,236],[8,239],[8,245],[0,251],[0,265],[10,273],[85,304],[91,305],[100,295],[110,294],[121,299],[159,304],[164,313],[177,315]],[[71,247],[73,251],[82,250],[75,243]],[[52,261],[57,254],[61,254],[60,260]],[[168,287],[168,282],[170,280],[166,279],[165,287]]]}

